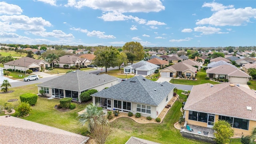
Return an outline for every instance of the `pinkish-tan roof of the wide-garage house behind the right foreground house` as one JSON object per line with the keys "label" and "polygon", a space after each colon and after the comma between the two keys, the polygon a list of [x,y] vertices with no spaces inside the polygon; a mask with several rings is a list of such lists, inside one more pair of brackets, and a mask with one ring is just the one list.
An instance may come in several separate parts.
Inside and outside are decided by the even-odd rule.
{"label": "pinkish-tan roof of the wide-garage house behind the right foreground house", "polygon": [[242,72],[241,70],[238,70],[237,68],[234,68],[229,65],[221,65],[216,66],[214,68],[209,68],[206,70],[206,74],[226,74],[228,76],[238,76],[238,77],[251,77],[245,72]]}

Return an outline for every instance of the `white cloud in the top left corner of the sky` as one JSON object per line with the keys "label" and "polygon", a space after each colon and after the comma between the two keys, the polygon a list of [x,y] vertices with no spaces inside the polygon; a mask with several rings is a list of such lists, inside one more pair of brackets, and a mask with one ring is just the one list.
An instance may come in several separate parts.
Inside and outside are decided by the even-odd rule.
{"label": "white cloud in the top left corner of the sky", "polygon": [[6,2],[0,2],[0,14],[18,14],[20,15],[22,13],[22,9],[20,6],[14,5],[14,4],[8,4]]}

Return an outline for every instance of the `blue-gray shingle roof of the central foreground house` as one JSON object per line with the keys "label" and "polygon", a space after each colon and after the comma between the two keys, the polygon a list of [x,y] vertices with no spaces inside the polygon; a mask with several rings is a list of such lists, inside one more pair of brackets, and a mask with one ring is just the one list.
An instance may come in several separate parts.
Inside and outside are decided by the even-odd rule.
{"label": "blue-gray shingle roof of the central foreground house", "polygon": [[161,86],[160,83],[143,76],[134,76],[92,96],[158,106],[174,87],[168,82],[162,82]]}

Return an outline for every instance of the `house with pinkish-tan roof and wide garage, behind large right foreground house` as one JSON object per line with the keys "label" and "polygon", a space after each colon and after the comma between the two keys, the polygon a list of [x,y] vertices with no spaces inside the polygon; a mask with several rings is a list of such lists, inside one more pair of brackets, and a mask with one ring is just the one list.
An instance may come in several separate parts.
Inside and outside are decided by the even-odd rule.
{"label": "house with pinkish-tan roof and wide garage, behind large right foreground house", "polygon": [[238,70],[230,65],[220,65],[207,69],[206,76],[209,78],[228,79],[229,82],[245,84],[250,80],[251,77],[245,72],[242,72],[241,70]]}

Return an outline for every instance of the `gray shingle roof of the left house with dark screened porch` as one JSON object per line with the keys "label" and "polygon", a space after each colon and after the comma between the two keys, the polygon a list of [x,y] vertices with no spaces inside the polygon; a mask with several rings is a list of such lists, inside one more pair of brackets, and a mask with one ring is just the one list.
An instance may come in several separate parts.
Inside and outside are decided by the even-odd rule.
{"label": "gray shingle roof of the left house with dark screened porch", "polygon": [[117,79],[118,78],[108,74],[96,75],[76,70],[75,72],[70,72],[52,80],[48,80],[47,82],[38,84],[37,86],[74,90],[79,92]]}

